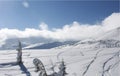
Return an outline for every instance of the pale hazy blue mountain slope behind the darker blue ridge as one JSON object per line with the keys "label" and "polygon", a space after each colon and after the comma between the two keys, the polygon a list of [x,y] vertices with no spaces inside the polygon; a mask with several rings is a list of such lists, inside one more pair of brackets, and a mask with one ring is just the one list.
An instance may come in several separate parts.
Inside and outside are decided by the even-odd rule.
{"label": "pale hazy blue mountain slope behind the darker blue ridge", "polygon": [[30,37],[30,38],[10,38],[5,41],[5,44],[3,44],[0,47],[0,50],[12,50],[16,49],[18,46],[18,40],[21,41],[22,47],[27,47],[32,44],[37,44],[37,43],[49,43],[53,42],[54,40],[52,39],[45,39],[42,37]]}

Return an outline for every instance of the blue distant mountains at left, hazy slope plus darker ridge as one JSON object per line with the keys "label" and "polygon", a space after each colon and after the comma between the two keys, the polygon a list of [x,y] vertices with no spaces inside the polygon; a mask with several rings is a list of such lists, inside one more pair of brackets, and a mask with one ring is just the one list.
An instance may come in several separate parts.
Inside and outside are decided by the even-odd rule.
{"label": "blue distant mountains at left, hazy slope plus darker ridge", "polygon": [[[22,43],[23,49],[50,49],[54,47],[59,47],[62,45],[72,45],[77,41],[56,41],[52,39],[45,39],[45,38],[20,38],[19,39]],[[18,39],[17,38],[10,38],[5,41],[0,47],[0,50],[14,50],[18,47]]]}

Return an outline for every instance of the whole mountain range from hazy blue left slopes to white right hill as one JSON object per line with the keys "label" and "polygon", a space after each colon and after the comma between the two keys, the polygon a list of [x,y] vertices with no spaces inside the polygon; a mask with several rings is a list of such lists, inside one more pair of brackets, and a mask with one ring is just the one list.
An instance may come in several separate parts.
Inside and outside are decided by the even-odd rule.
{"label": "whole mountain range from hazy blue left slopes to white right hill", "polygon": [[[20,38],[23,49],[51,49],[55,47],[84,44],[84,43],[115,43],[120,41],[120,27],[107,31],[96,39],[85,39],[85,40],[69,40],[69,41],[57,41],[53,39],[45,39],[42,37],[30,37]],[[101,42],[102,41],[102,42]],[[18,38],[10,38],[5,40],[5,44],[0,47],[0,50],[16,49],[18,46]]]}

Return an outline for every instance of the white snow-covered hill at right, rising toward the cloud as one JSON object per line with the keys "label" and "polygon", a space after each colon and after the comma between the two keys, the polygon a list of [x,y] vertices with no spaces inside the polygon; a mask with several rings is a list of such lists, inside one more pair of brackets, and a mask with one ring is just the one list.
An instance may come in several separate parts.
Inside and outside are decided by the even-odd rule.
{"label": "white snow-covered hill at right, rising toward the cloud", "polygon": [[113,48],[120,47],[120,27],[107,31],[96,39],[81,40],[78,44],[98,44],[96,48]]}

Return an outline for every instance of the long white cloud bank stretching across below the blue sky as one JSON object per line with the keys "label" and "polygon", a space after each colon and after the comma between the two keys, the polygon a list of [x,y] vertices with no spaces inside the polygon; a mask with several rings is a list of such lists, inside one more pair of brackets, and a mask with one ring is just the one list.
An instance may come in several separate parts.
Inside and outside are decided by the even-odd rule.
{"label": "long white cloud bank stretching across below the blue sky", "polygon": [[72,24],[64,25],[63,28],[53,28],[49,30],[46,23],[41,23],[39,29],[25,28],[21,31],[18,29],[0,29],[0,43],[8,38],[29,38],[43,37],[57,40],[81,40],[86,38],[96,38],[106,31],[120,27],[120,13],[113,13],[105,18],[99,24],[81,24],[74,21]]}

